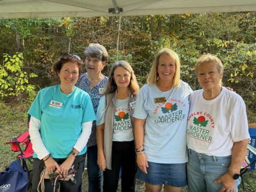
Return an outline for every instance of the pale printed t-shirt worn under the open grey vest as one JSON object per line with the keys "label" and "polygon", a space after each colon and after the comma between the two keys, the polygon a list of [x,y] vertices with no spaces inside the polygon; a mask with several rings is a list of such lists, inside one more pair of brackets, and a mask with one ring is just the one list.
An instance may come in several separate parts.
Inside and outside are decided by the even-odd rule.
{"label": "pale printed t-shirt worn under the open grey vest", "polygon": [[[128,107],[129,100],[130,97],[127,97],[126,99],[116,99],[114,103],[115,113],[113,117],[114,125],[112,141],[132,141],[134,139],[131,124],[131,114]],[[97,125],[105,123],[105,111],[106,97],[102,96],[97,109]]]}

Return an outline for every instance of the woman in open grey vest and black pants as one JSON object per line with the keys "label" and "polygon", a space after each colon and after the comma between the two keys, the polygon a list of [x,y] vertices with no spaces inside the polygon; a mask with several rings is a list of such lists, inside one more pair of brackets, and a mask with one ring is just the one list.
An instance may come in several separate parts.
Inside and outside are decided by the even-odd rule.
{"label": "woman in open grey vest and black pants", "polygon": [[135,192],[134,112],[139,91],[136,76],[125,61],[115,62],[97,109],[97,164],[103,170],[103,191],[115,192],[122,167],[122,192]]}

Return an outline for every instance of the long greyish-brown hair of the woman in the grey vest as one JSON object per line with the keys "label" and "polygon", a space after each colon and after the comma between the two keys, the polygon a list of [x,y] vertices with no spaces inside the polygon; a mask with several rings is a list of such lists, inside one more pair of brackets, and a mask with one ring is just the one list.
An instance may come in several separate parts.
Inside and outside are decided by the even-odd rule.
{"label": "long greyish-brown hair of the woman in the grey vest", "polygon": [[113,93],[115,90],[117,90],[117,86],[116,86],[116,83],[113,78],[114,70],[117,67],[122,67],[125,70],[127,70],[129,73],[131,73],[131,80],[130,80],[130,84],[128,85],[128,87],[129,87],[129,90],[131,91],[131,94],[133,96],[137,96],[137,94],[140,90],[140,87],[138,85],[134,71],[131,68],[131,65],[126,61],[118,61],[112,65],[112,68],[110,69],[110,72],[109,72],[108,82],[107,82],[107,85],[106,85],[106,88],[105,88],[105,91],[103,94],[106,95],[109,93]]}

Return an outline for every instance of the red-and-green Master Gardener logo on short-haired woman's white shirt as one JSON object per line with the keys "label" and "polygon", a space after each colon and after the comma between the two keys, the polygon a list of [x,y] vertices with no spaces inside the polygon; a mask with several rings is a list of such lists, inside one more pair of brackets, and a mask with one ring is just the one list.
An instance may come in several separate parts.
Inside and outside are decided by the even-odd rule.
{"label": "red-and-green Master Gardener logo on short-haired woman's white shirt", "polygon": [[[208,119],[208,120],[206,120]],[[193,122],[191,122],[193,120]],[[193,124],[192,124],[193,123]],[[202,111],[194,112],[188,116],[187,135],[205,141],[207,143],[212,142],[211,130],[215,128],[214,120],[209,113]]]}

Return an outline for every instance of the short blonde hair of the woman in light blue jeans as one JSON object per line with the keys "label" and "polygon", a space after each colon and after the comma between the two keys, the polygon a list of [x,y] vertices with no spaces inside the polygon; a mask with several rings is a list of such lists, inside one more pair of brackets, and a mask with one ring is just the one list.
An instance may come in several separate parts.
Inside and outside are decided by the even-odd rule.
{"label": "short blonde hair of the woman in light blue jeans", "polygon": [[210,53],[206,54],[206,55],[202,55],[200,56],[200,58],[197,60],[196,62],[196,65],[195,65],[195,74],[196,76],[198,77],[198,67],[199,65],[201,65],[202,63],[205,63],[205,62],[212,62],[214,64],[217,65],[217,69],[218,69],[218,72],[223,75],[223,65],[222,65],[222,62],[221,60],[216,57],[216,56],[213,56],[211,55]]}

